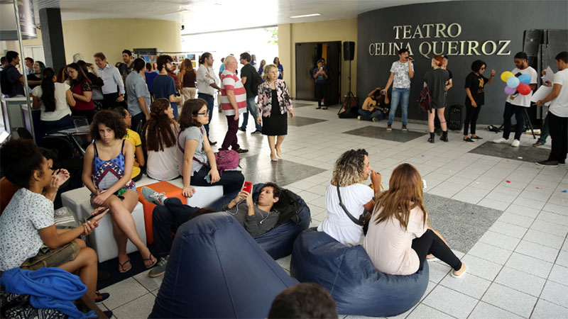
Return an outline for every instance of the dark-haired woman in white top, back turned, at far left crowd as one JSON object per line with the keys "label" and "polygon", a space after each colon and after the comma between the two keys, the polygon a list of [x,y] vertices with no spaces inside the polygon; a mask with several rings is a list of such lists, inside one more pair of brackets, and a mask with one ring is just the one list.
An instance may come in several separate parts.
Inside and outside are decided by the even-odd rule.
{"label": "dark-haired woman in white top, back turned, at far left crowd", "polygon": [[43,70],[41,85],[31,91],[33,108],[41,108],[41,130],[50,133],[73,126],[71,109],[75,106],[69,84],[57,82],[55,71],[48,67]]}

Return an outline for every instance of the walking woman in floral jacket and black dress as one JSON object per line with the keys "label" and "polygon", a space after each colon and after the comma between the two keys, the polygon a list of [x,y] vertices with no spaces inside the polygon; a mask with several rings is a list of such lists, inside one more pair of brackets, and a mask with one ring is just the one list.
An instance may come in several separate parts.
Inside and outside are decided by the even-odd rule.
{"label": "walking woman in floral jacket and black dress", "polygon": [[285,82],[278,79],[278,69],[275,65],[264,68],[263,78],[266,82],[258,86],[258,101],[256,102],[256,123],[262,122],[262,134],[268,138],[271,148],[271,160],[275,162],[282,157],[280,146],[288,135],[288,113],[294,117],[292,99]]}

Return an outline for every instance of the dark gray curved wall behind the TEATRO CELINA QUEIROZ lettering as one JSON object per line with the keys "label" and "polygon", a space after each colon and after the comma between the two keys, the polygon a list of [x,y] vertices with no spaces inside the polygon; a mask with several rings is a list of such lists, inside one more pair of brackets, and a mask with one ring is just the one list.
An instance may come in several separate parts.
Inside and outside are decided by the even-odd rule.
{"label": "dark gray curved wall behind the TEATRO CELINA QUEIROZ lettering", "polygon": [[[432,40],[510,40],[510,55],[471,55],[449,56],[449,69],[454,74],[454,87],[449,91],[449,105],[464,104],[464,79],[471,72],[471,62],[484,60],[488,70],[496,69],[496,79],[486,86],[486,103],[479,116],[479,124],[501,124],[506,99],[503,93],[505,83],[499,79],[501,72],[513,69],[513,56],[523,48],[523,30],[567,29],[568,1],[450,1],[431,4],[411,4],[378,9],[361,13],[357,26],[357,88],[356,94],[366,96],[376,86],[385,86],[389,70],[398,55],[369,55],[370,43],[408,42],[413,48],[415,76],[412,79],[409,118],[427,119],[418,110],[416,100],[422,89],[422,77],[430,67],[430,59],[418,53],[420,43]],[[457,38],[402,39],[395,40],[393,26],[412,25],[414,33],[417,25],[425,23],[451,23],[461,25],[461,35]],[[452,29],[455,30],[455,29]],[[402,33],[401,33],[402,35]],[[432,34],[431,34],[432,35]],[[565,42],[568,50],[568,41]],[[459,47],[459,46],[458,46]],[[489,49],[489,47],[488,47]],[[481,52],[481,50],[479,50]],[[444,54],[447,50],[444,51]],[[473,53],[473,52],[472,52]],[[555,53],[556,55],[556,53]],[[432,54],[430,54],[430,58]],[[556,71],[556,66],[551,65]],[[362,101],[360,101],[362,103]],[[400,107],[399,107],[400,110]],[[400,111],[397,112],[400,116]]]}

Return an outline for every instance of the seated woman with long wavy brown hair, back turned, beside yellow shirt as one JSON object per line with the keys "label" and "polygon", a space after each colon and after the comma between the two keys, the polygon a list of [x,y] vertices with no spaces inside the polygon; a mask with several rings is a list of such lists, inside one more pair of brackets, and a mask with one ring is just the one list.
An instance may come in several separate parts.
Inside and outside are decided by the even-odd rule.
{"label": "seated woman with long wavy brown hair, back turned, beside yellow shirt", "polygon": [[158,181],[169,181],[180,176],[176,140],[180,125],[174,120],[168,99],[156,99],[150,105],[150,119],[144,126],[142,144],[148,150],[146,174]]}

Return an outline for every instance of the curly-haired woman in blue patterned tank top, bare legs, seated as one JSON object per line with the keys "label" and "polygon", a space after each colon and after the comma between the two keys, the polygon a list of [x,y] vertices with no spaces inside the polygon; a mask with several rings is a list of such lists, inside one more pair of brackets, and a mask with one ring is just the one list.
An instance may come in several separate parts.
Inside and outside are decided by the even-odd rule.
{"label": "curly-haired woman in blue patterned tank top, bare legs, seated", "polygon": [[131,216],[138,203],[138,192],[131,179],[133,145],[123,140],[125,135],[126,125],[118,114],[108,110],[97,112],[91,124],[94,141],[85,152],[82,176],[84,185],[91,191],[92,206],[110,208],[114,240],[119,248],[119,272],[132,268],[126,254],[127,240],[138,247],[146,268],[157,262],[136,232]]}

